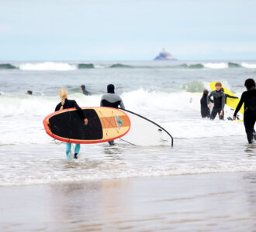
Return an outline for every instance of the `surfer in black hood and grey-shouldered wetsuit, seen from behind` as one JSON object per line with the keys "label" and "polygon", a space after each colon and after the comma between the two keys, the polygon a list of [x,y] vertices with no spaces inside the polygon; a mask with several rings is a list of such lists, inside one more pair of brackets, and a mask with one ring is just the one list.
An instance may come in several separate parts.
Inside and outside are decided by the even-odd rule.
{"label": "surfer in black hood and grey-shouldered wetsuit, seen from behind", "polygon": [[[108,93],[102,96],[100,106],[113,108],[120,107],[124,109],[125,107],[122,98],[118,94],[115,94],[115,86],[113,84],[109,84],[107,86],[107,91]],[[114,141],[109,141],[109,145],[114,145]]]}

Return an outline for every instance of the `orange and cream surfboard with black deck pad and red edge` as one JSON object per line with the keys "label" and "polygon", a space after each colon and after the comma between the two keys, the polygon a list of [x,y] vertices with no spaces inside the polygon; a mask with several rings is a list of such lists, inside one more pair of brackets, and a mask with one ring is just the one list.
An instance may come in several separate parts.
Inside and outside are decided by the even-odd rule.
{"label": "orange and cream surfboard with black deck pad and red edge", "polygon": [[119,109],[111,107],[82,107],[88,118],[83,118],[75,108],[56,111],[43,119],[45,131],[62,142],[98,143],[120,138],[130,130],[130,118]]}

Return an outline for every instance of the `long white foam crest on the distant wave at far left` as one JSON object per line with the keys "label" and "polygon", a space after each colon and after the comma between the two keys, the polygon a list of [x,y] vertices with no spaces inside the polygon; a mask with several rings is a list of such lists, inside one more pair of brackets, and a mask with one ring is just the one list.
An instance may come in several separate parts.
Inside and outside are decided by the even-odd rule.
{"label": "long white foam crest on the distant wave at far left", "polygon": [[56,70],[56,71],[69,71],[77,70],[76,65],[68,63],[56,62],[43,62],[43,63],[22,63],[19,65],[20,70]]}

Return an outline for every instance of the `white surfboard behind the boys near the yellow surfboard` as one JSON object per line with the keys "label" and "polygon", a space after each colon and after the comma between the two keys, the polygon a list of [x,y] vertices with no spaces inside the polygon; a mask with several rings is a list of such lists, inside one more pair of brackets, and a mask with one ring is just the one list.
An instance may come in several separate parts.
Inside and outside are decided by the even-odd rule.
{"label": "white surfboard behind the boys near the yellow surfboard", "polygon": [[[200,100],[202,98],[202,94],[199,93],[191,93],[191,92],[187,92],[187,99],[186,102],[188,104],[188,106],[194,110],[194,111],[199,111],[201,112],[201,104],[200,104]],[[213,110],[213,104],[211,104],[210,107],[210,111]],[[224,119],[225,120],[230,120],[232,121],[233,119],[233,115],[234,115],[234,108],[228,106],[227,104],[225,104],[224,107]],[[217,117],[216,117],[217,118]],[[243,120],[243,114],[238,113],[237,114],[237,121]]]}

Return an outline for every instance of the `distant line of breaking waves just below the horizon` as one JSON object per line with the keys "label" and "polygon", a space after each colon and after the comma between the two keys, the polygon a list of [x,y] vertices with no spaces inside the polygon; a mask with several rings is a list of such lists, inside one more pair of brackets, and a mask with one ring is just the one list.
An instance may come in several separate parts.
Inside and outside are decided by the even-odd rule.
{"label": "distant line of breaking waves just below the horizon", "polygon": [[141,65],[130,65],[124,63],[65,63],[65,62],[41,62],[41,63],[0,63],[0,70],[56,70],[71,71],[82,69],[99,69],[99,68],[143,68],[143,69],[227,69],[227,68],[247,68],[256,69],[256,63],[246,62],[209,62],[209,63],[149,63]]}

